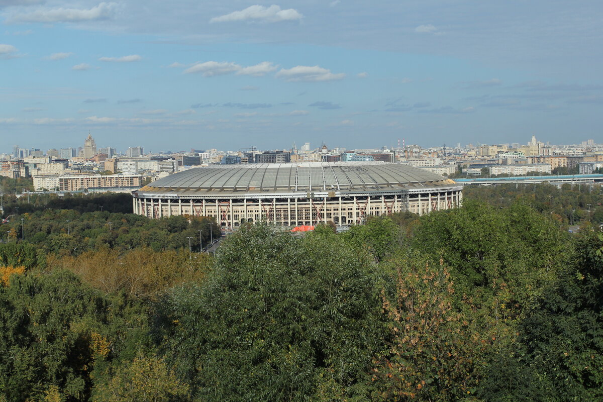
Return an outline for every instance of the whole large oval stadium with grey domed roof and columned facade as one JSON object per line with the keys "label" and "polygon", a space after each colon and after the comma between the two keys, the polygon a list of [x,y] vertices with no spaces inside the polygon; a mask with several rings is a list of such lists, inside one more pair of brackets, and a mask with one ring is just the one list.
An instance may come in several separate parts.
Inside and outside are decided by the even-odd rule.
{"label": "whole large oval stadium with grey domed roof and columned facade", "polygon": [[350,225],[368,216],[458,207],[463,185],[387,162],[258,163],[189,169],[132,195],[134,213],[149,218],[211,216],[223,228],[256,221]]}

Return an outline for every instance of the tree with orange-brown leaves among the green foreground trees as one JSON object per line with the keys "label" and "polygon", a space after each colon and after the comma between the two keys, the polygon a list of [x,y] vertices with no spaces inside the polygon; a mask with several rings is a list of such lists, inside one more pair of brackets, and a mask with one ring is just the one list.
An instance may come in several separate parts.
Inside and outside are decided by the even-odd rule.
{"label": "tree with orange-brown leaves among the green foreground trees", "polygon": [[382,292],[391,334],[373,366],[377,398],[446,402],[472,395],[490,342],[472,328],[470,315],[453,306],[452,279],[443,261],[433,266],[415,254],[392,263],[396,292],[392,297]]}

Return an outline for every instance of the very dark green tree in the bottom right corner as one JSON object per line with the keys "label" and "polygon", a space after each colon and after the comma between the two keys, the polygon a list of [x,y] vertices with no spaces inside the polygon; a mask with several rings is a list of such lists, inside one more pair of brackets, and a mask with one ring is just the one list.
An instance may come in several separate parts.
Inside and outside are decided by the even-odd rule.
{"label": "very dark green tree in the bottom right corner", "polygon": [[494,360],[490,371],[499,374],[481,391],[487,400],[602,400],[603,234],[581,237],[577,251],[576,264],[563,270],[520,324],[512,369],[500,375]]}

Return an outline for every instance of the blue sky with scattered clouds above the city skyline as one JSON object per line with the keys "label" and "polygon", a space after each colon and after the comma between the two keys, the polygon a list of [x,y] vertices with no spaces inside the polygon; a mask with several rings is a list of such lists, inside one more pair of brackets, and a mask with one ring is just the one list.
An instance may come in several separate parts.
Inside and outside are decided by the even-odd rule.
{"label": "blue sky with scattered clouds above the city skyline", "polygon": [[0,0],[0,152],[603,142],[601,0]]}

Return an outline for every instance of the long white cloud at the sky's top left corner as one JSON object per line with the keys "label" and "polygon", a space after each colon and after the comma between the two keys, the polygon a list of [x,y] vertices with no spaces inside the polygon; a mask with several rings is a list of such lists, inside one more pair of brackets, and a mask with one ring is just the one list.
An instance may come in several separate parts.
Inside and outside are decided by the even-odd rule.
{"label": "long white cloud at the sky's top left corner", "polygon": [[88,9],[54,8],[52,10],[37,10],[29,14],[17,14],[12,18],[19,22],[80,22],[108,19],[113,15],[116,3],[102,2]]}

